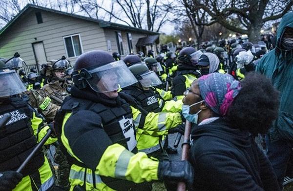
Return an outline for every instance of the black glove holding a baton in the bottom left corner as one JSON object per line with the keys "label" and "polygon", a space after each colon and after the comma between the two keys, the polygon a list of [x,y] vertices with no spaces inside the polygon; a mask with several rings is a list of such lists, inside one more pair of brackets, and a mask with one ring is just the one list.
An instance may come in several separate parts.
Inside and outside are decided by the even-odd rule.
{"label": "black glove holding a baton in the bottom left corner", "polygon": [[0,172],[0,191],[11,191],[21,181],[22,174],[15,171]]}

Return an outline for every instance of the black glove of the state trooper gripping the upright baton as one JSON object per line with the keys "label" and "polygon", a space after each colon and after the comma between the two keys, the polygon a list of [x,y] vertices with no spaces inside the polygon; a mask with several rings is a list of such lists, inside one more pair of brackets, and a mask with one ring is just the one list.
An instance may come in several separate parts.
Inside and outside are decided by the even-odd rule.
{"label": "black glove of the state trooper gripping the upright baton", "polygon": [[159,162],[158,178],[162,181],[185,182],[191,188],[193,173],[193,167],[187,160]]}

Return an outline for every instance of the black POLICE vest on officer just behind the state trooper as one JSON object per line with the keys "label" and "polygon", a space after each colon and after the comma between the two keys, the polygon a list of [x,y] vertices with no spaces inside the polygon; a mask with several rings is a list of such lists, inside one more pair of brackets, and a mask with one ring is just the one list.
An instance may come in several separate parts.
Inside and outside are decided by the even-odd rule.
{"label": "black POLICE vest on officer just behind the state trooper", "polygon": [[124,93],[134,97],[147,112],[158,113],[161,112],[159,105],[159,95],[152,90],[138,90],[135,87],[129,87],[123,90]]}

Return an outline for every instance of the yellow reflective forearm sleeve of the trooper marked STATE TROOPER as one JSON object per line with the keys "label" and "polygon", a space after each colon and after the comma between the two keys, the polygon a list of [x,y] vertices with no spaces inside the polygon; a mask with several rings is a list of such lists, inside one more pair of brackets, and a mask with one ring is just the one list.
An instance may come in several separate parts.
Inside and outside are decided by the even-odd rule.
{"label": "yellow reflective forearm sleeve of the trooper marked STATE TROOPER", "polygon": [[97,166],[99,175],[126,179],[135,183],[158,180],[159,162],[146,153],[131,153],[119,144],[110,145]]}

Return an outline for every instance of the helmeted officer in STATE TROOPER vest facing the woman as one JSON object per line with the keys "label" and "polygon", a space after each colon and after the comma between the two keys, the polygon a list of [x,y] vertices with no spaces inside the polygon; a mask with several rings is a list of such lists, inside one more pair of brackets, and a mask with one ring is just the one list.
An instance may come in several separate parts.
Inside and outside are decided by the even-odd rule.
{"label": "helmeted officer in STATE TROOPER vest facing the woman", "polygon": [[145,181],[191,180],[187,162],[159,162],[146,153],[136,153],[135,128],[149,134],[160,129],[144,124],[142,113],[118,93],[119,88],[137,82],[123,61],[114,61],[104,51],[84,53],[74,65],[73,81],[71,96],[55,118],[72,162],[71,189],[126,191],[136,190],[134,183]]}

